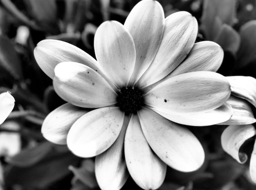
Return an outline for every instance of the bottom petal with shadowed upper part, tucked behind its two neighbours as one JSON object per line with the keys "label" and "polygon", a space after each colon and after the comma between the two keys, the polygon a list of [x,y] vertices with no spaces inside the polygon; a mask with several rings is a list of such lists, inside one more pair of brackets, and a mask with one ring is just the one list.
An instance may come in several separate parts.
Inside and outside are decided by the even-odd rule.
{"label": "bottom petal with shadowed upper part, tucked behind its two neighbours", "polygon": [[102,190],[119,190],[124,186],[129,173],[124,159],[124,136],[129,118],[124,118],[122,130],[115,143],[105,152],[96,156],[95,176]]}

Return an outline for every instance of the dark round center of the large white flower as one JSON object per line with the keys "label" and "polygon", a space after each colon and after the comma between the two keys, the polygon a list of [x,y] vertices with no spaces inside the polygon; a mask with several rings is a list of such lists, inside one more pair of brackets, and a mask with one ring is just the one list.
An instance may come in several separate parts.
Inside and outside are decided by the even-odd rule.
{"label": "dark round center of the large white flower", "polygon": [[136,88],[122,88],[119,96],[117,96],[117,106],[126,115],[137,114],[143,103],[143,92]]}

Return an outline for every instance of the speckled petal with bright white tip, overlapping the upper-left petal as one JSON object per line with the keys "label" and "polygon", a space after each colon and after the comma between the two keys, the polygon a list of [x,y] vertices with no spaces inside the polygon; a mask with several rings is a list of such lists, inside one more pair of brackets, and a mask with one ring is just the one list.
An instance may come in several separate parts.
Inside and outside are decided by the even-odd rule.
{"label": "speckled petal with bright white tip, overlapping the upper-left petal", "polygon": [[98,108],[116,103],[116,92],[96,71],[80,63],[64,62],[55,69],[56,93],[73,105]]}

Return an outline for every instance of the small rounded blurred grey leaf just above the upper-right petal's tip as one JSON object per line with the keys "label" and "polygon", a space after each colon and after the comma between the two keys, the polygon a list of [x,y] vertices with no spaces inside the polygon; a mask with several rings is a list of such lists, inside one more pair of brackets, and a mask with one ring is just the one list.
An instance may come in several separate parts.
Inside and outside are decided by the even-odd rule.
{"label": "small rounded blurred grey leaf just above the upper-right petal's tip", "polygon": [[219,34],[214,41],[218,43],[224,51],[230,51],[233,55],[236,55],[240,46],[239,34],[227,24],[223,24],[220,27]]}

